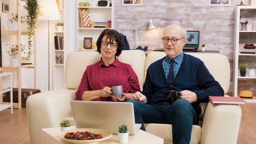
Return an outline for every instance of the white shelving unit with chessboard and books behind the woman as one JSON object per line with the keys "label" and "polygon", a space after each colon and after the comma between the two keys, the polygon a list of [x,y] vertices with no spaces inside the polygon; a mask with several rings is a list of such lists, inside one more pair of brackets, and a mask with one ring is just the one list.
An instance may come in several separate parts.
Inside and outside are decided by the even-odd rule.
{"label": "white shelving unit with chessboard and books behind the woman", "polygon": [[[93,42],[97,42],[100,33],[106,28],[82,28],[79,16],[79,8],[88,8],[90,20],[105,21],[111,20],[111,28],[114,29],[115,22],[115,1],[112,0],[111,7],[79,7],[79,3],[84,0],[76,0],[76,51],[84,51],[84,37],[92,37]],[[97,5],[97,2],[96,2]]]}

